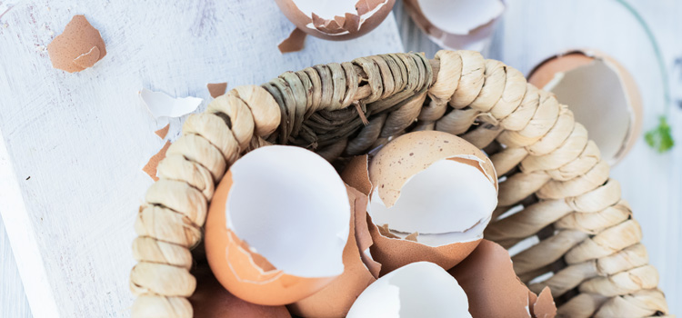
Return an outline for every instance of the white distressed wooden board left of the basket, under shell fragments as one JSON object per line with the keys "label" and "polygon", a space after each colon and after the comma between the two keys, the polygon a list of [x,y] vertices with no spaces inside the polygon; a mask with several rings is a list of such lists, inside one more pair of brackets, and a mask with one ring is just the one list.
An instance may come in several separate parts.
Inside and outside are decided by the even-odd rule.
{"label": "white distressed wooden board left of the basket, under shell fragments", "polygon": [[[70,75],[51,67],[45,46],[76,14],[100,30],[107,55]],[[402,51],[393,16],[361,39],[309,38],[303,52],[281,55],[276,45],[292,29],[266,0],[25,1],[0,17],[0,213],[36,317],[128,315],[133,224],[152,183],[141,168],[163,145],[154,131],[167,123],[137,91],[207,101],[206,83],[260,84],[287,70]],[[181,120],[170,122],[174,138]],[[16,267],[2,274],[3,288],[16,284],[5,283],[16,282]],[[21,290],[12,293],[3,289],[0,317],[26,315],[13,309]]]}

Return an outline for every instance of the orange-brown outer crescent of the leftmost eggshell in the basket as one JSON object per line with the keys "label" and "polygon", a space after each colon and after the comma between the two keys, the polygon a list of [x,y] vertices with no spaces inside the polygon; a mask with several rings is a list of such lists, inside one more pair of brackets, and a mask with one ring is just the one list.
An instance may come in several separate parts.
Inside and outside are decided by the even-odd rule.
{"label": "orange-brown outer crescent of the leftmost eggshell in the basket", "polygon": [[265,257],[251,252],[248,244],[226,227],[225,206],[232,184],[228,171],[216,189],[206,219],[206,257],[218,282],[247,302],[280,305],[304,299],[334,281],[336,277],[283,273]]}

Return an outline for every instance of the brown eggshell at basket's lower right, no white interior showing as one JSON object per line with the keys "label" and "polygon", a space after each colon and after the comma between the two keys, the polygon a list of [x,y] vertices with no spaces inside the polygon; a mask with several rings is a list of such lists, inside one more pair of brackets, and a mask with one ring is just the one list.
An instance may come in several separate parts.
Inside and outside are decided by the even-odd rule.
{"label": "brown eggshell at basket's lower right, no white interior showing", "polygon": [[552,311],[556,313],[551,293],[537,297],[530,292],[514,273],[509,253],[496,243],[481,241],[473,253],[447,272],[464,289],[469,313],[474,317],[531,317],[532,310],[548,318]]}

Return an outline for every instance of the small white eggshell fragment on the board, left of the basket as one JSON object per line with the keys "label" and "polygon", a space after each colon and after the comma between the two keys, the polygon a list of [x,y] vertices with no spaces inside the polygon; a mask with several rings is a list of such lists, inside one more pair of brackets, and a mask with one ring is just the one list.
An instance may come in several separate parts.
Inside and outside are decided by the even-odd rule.
{"label": "small white eggshell fragment on the board, left of the basket", "polygon": [[174,98],[162,92],[153,92],[146,88],[140,91],[140,98],[155,118],[180,117],[196,110],[204,100],[198,97]]}

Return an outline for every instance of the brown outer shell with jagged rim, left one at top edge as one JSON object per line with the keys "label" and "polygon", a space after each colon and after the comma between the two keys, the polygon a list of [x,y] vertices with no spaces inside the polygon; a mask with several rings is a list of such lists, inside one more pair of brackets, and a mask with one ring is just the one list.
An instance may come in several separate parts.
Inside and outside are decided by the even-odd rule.
{"label": "brown outer shell with jagged rim, left one at top edge", "polygon": [[[332,20],[320,19],[317,21],[314,21],[313,16],[307,16],[301,12],[292,0],[275,0],[275,2],[279,5],[279,9],[282,10],[282,13],[286,15],[286,18],[296,25],[297,28],[308,35],[332,41],[345,41],[366,35],[386,19],[386,16],[391,12],[393,5],[396,4],[396,0],[386,0],[385,5],[379,8],[374,15],[366,17],[366,20],[360,25],[360,17],[358,15],[363,15],[366,12],[375,9],[376,5],[380,5],[381,3],[384,3],[384,1],[359,0],[356,3],[357,12],[340,12]],[[308,27],[307,25],[310,23],[314,23],[316,28]],[[359,30],[357,29],[357,25],[360,25]],[[335,35],[346,31],[346,34]]]}

